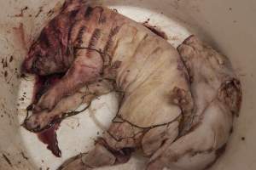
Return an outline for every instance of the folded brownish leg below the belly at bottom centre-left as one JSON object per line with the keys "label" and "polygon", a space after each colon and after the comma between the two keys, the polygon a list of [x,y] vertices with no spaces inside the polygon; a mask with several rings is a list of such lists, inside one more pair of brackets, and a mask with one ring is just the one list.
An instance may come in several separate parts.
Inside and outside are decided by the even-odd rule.
{"label": "folded brownish leg below the belly at bottom centre-left", "polygon": [[142,135],[143,129],[126,122],[113,122],[103,137],[97,139],[93,150],[67,160],[58,170],[87,170],[125,163],[139,147]]}

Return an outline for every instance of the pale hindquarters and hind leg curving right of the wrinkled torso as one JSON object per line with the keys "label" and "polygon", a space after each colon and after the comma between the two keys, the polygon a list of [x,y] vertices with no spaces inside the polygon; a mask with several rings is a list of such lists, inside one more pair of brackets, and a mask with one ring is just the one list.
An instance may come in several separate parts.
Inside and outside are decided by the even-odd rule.
{"label": "pale hindquarters and hind leg curving right of the wrinkled torso", "polygon": [[177,49],[189,70],[193,126],[174,142],[167,140],[150,158],[148,170],[210,167],[224,152],[241,105],[241,85],[229,59],[194,36]]}

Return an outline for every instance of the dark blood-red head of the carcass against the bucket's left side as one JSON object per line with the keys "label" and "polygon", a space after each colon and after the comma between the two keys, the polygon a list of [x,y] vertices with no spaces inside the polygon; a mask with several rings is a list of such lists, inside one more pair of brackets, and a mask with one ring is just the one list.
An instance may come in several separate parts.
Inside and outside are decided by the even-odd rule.
{"label": "dark blood-red head of the carcass against the bucket's left side", "polygon": [[41,76],[67,71],[67,48],[52,27],[45,27],[32,44],[23,63],[23,71]]}

